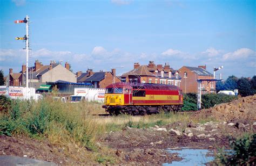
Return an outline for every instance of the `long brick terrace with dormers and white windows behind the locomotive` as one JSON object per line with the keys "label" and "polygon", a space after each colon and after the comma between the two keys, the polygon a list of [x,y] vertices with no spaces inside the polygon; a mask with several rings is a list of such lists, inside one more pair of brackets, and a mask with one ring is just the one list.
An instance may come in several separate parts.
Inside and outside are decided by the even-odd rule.
{"label": "long brick terrace with dormers and white windows behind the locomotive", "polygon": [[178,70],[170,68],[169,63],[154,64],[150,61],[148,65],[140,65],[134,63],[133,70],[121,76],[122,82],[139,82],[139,83],[155,83],[170,84],[180,86],[181,77]]}

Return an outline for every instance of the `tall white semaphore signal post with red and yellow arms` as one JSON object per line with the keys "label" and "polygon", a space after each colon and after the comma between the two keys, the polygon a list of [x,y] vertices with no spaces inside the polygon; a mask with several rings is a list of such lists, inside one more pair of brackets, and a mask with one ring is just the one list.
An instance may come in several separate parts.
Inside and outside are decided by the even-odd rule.
{"label": "tall white semaphore signal post with red and yellow arms", "polygon": [[29,16],[26,15],[24,20],[16,20],[14,23],[25,23],[26,24],[26,35],[23,38],[15,38],[16,40],[26,40],[26,99],[28,99],[28,88],[29,88]]}

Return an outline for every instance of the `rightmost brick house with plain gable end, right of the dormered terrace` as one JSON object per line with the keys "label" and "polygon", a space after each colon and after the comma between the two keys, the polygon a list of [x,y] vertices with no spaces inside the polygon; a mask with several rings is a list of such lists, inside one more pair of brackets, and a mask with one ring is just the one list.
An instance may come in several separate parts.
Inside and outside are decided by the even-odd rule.
{"label": "rightmost brick house with plain gable end, right of the dormered terrace", "polygon": [[[179,69],[179,74],[182,77],[180,87],[184,93],[197,93],[197,80],[213,80],[213,74],[206,70],[206,65],[198,67],[183,66]],[[202,94],[215,93],[215,86],[215,81],[203,81],[201,83]]]}

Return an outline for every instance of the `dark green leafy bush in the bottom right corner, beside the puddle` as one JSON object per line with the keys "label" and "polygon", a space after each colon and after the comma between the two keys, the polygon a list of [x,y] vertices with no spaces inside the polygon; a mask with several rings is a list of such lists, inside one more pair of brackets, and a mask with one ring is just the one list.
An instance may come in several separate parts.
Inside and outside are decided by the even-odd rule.
{"label": "dark green leafy bush in the bottom right corner, beside the puddle", "polygon": [[[248,135],[239,139],[230,139],[231,151],[219,149],[215,163],[225,165],[254,165],[256,156],[256,134]],[[254,163],[253,163],[254,161]]]}

